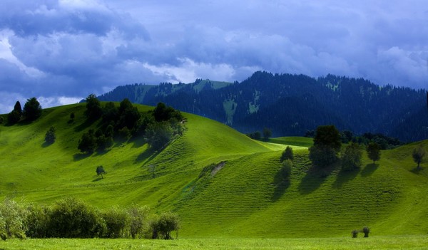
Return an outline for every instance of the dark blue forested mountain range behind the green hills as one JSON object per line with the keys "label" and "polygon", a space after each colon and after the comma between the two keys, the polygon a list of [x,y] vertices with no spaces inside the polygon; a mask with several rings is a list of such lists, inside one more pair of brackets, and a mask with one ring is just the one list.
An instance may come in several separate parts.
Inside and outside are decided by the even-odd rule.
{"label": "dark blue forested mountain range behind the green hills", "polygon": [[245,133],[268,127],[273,136],[301,136],[318,125],[334,124],[357,135],[380,132],[403,141],[428,138],[426,90],[379,86],[362,78],[259,71],[240,83],[197,79],[188,84],[133,84],[98,98],[128,98],[146,105],[163,102]]}

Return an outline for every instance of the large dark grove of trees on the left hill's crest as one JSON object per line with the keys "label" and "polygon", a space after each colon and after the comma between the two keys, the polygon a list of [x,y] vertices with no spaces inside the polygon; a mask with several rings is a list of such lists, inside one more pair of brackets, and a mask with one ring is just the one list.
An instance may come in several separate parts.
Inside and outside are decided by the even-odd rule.
{"label": "large dark grove of trees on the left hill's crest", "polygon": [[101,118],[98,130],[84,133],[78,142],[81,152],[92,153],[106,150],[113,145],[113,137],[128,140],[132,136],[144,136],[153,150],[160,150],[174,135],[181,135],[183,116],[180,111],[158,103],[152,112],[140,113],[127,99],[117,107],[108,102],[101,107],[95,95],[86,98],[86,119],[94,122]]}

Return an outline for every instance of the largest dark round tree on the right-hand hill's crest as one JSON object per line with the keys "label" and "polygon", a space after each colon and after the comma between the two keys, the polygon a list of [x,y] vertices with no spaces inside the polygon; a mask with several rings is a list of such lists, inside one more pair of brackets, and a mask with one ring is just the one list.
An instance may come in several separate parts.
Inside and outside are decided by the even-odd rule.
{"label": "largest dark round tree on the right-hand hill's crest", "polygon": [[334,125],[318,126],[314,145],[309,148],[309,159],[317,167],[327,167],[336,162],[341,146],[340,132]]}

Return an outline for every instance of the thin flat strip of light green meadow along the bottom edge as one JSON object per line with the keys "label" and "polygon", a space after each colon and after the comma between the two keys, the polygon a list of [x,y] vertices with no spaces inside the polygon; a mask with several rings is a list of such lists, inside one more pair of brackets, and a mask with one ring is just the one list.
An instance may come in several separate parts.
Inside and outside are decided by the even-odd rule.
{"label": "thin flat strip of light green meadow along the bottom edge", "polygon": [[428,249],[428,235],[298,239],[11,239],[0,249]]}

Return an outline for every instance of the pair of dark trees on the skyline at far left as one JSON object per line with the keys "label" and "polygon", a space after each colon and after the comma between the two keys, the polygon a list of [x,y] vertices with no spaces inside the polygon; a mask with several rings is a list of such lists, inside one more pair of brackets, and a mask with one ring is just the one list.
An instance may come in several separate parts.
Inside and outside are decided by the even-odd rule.
{"label": "pair of dark trees on the skyline at far left", "polygon": [[9,125],[14,125],[23,118],[24,120],[31,122],[41,116],[41,111],[41,105],[36,98],[27,99],[24,109],[21,108],[21,103],[16,101],[14,110],[12,110],[11,113],[7,115],[7,121]]}

